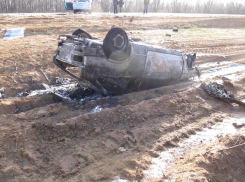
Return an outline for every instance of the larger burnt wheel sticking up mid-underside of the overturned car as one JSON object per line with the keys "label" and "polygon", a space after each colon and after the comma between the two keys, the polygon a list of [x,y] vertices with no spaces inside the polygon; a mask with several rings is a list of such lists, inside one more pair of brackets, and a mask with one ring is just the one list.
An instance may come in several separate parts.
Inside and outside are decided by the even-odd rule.
{"label": "larger burnt wheel sticking up mid-underside of the overturned car", "polygon": [[106,34],[103,41],[103,50],[108,59],[123,61],[129,56],[129,42],[126,32],[117,27],[113,27]]}

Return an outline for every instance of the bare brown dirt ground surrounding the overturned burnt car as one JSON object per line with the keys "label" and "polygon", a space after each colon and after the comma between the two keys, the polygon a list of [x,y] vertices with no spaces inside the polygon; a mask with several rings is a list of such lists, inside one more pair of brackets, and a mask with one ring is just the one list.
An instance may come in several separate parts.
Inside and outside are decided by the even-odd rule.
{"label": "bare brown dirt ground surrounding the overturned burnt car", "polygon": [[[130,37],[197,53],[196,65],[204,77],[83,105],[62,102],[52,94],[16,97],[44,89],[42,83],[47,81],[40,69],[50,84],[69,78],[52,62],[59,34],[81,28],[102,39],[113,25]],[[25,37],[2,39],[6,29],[17,27],[25,27]],[[179,31],[173,32],[173,27]],[[0,88],[6,95],[0,99],[1,182],[107,182],[115,176],[152,182],[166,177],[169,181],[244,181],[244,145],[222,150],[244,143],[243,127],[176,159],[162,178],[145,180],[143,172],[161,151],[178,147],[178,142],[203,128],[225,118],[244,117],[244,108],[218,101],[199,87],[203,81],[219,81],[245,100],[244,69],[230,67],[209,76],[210,70],[245,63],[243,16],[0,14],[0,37]],[[223,81],[224,76],[233,79]],[[89,113],[98,105],[107,109]]]}

